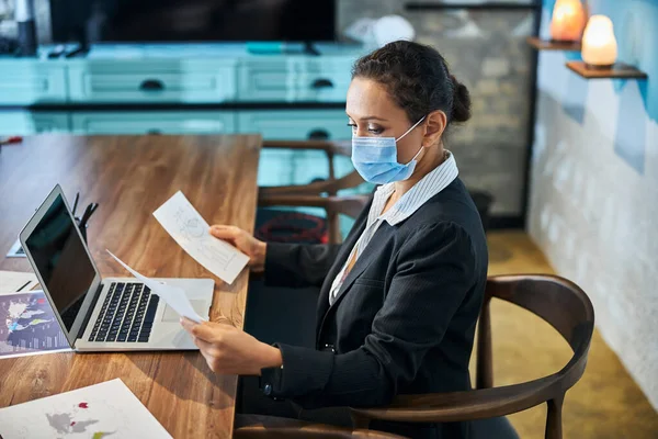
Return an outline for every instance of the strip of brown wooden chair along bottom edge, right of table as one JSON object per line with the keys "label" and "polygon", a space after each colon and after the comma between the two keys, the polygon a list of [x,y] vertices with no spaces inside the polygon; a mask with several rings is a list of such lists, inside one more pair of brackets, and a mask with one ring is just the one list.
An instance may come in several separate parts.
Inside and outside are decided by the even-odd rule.
{"label": "strip of brown wooden chair along bottom edge, right of table", "polygon": [[234,428],[235,439],[405,439],[402,436],[383,431],[334,427],[326,424],[277,418],[262,415],[237,415]]}

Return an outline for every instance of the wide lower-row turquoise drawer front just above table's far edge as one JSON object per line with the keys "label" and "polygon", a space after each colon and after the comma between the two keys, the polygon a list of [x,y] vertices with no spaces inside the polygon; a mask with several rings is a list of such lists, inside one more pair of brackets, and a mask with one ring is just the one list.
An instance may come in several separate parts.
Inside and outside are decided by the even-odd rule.
{"label": "wide lower-row turquoise drawer front just above table's far edge", "polygon": [[77,134],[230,134],[235,115],[222,111],[73,113]]}

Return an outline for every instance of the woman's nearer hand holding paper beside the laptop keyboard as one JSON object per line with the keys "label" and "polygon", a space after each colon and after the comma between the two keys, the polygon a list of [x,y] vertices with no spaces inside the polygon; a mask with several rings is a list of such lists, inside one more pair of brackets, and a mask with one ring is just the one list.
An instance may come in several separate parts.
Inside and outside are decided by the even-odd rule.
{"label": "woman's nearer hand holding paper beside the laptop keyboard", "polygon": [[226,317],[220,322],[197,324],[181,318],[181,325],[194,339],[211,370],[220,374],[260,375],[263,368],[283,364],[281,351],[234,327]]}

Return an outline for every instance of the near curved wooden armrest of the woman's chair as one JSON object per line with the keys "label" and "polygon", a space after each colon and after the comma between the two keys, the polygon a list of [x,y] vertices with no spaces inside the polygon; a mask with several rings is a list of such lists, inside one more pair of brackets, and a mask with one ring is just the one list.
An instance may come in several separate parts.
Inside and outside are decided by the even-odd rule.
{"label": "near curved wooden armrest of the woman's chair", "polygon": [[[356,426],[370,419],[453,423],[506,416],[564,394],[557,374],[526,383],[466,392],[401,395],[387,407],[351,408]],[[365,421],[365,423],[364,423]]]}

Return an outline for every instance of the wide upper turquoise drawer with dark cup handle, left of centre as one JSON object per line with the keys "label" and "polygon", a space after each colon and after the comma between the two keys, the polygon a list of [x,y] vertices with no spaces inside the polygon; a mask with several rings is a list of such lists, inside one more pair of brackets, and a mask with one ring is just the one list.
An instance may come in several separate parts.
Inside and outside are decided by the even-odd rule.
{"label": "wide upper turquoise drawer with dark cup handle, left of centre", "polygon": [[235,63],[189,60],[89,61],[69,69],[73,102],[190,102],[234,99]]}

